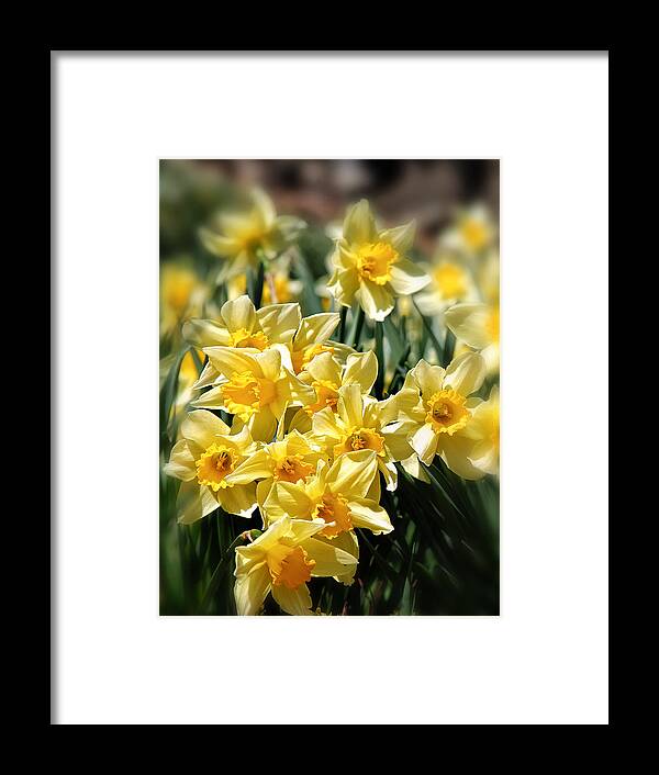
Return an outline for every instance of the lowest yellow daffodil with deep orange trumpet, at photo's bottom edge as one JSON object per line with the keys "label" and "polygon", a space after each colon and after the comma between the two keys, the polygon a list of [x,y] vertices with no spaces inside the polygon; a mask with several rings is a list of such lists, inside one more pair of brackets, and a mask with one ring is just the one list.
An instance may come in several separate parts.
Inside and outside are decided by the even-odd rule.
{"label": "lowest yellow daffodil with deep orange trumpet, at photo's bottom edge", "polygon": [[287,614],[311,615],[306,582],[312,576],[340,575],[357,564],[353,554],[314,538],[325,527],[323,519],[283,516],[255,541],[236,549],[234,596],[238,615],[259,614],[270,592]]}

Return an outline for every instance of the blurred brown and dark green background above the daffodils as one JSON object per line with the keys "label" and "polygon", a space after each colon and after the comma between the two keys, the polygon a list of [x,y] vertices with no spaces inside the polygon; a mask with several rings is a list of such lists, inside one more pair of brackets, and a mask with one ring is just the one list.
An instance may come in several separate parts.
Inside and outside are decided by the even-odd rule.
{"label": "blurred brown and dark green background above the daffodils", "polygon": [[[278,213],[298,215],[321,233],[366,196],[386,224],[416,218],[416,244],[426,254],[468,203],[482,202],[499,220],[499,161],[492,159],[163,160],[161,257],[201,252],[200,223],[236,204],[236,189],[252,186],[268,192]],[[312,270],[320,276],[325,268],[312,262]]]}

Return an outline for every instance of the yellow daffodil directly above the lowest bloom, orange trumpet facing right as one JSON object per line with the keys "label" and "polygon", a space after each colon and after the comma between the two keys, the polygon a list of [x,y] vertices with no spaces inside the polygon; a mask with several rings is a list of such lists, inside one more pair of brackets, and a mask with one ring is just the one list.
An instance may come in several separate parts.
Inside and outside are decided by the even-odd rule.
{"label": "yellow daffodil directly above the lowest bloom, orange trumpet facing right", "polygon": [[[315,474],[306,481],[275,482],[265,501],[259,499],[259,507],[266,524],[284,515],[294,519],[322,519],[325,527],[316,538],[358,559],[355,528],[378,536],[393,530],[379,499],[377,456],[372,450],[361,450],[342,454],[332,465],[319,461]],[[354,575],[353,565],[343,569],[335,577],[350,584]]]}

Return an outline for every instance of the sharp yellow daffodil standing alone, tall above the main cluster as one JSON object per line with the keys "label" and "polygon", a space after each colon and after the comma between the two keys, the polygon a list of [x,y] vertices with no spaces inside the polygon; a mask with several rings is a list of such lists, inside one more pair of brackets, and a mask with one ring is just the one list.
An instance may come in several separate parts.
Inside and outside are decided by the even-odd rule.
{"label": "sharp yellow daffodil standing alone, tall above the main cluster", "polygon": [[421,291],[429,278],[405,257],[414,242],[414,222],[378,229],[366,200],[351,205],[336,244],[328,282],[336,301],[350,306],[357,299],[369,318],[383,321],[393,310],[395,296]]}

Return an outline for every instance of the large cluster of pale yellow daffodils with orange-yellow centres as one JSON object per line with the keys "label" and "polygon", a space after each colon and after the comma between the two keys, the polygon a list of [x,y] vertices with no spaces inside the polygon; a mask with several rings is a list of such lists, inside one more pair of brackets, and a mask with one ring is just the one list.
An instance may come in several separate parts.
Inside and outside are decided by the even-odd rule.
{"label": "large cluster of pale yellow daffodils with orange-yellow centres", "polygon": [[[300,227],[257,192],[253,210],[225,216],[202,239],[235,282],[260,261],[270,267]],[[491,228],[465,215],[451,240],[460,237],[469,250],[485,249]],[[165,472],[181,481],[182,525],[217,508],[244,518],[258,509],[260,532],[235,548],[241,615],[260,613],[270,594],[282,611],[309,615],[311,579],[350,585],[357,530],[394,530],[383,496],[402,473],[427,482],[437,457],[465,480],[498,473],[498,389],[477,395],[499,363],[498,299],[479,300],[468,270],[446,251],[434,266],[411,260],[413,242],[413,223],[380,228],[362,200],[348,210],[331,257],[330,291],[340,306],[361,308],[376,342],[396,297],[418,294],[462,344],[445,367],[421,358],[389,393],[384,350],[346,344],[339,312],[303,316],[298,302],[257,306],[243,294],[212,319],[182,325],[200,370],[187,384],[189,411]],[[272,296],[275,285],[261,301]]]}

